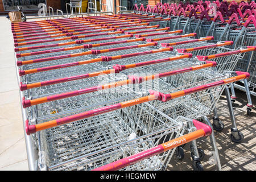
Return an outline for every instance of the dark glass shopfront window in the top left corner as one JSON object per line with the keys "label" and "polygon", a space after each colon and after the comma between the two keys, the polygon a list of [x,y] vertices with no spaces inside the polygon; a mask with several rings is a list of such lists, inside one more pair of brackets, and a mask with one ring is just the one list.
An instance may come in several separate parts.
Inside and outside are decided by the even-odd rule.
{"label": "dark glass shopfront window in the top left corner", "polygon": [[38,4],[44,3],[46,4],[46,0],[2,0],[3,1],[3,7],[5,8],[5,11],[17,11],[18,7],[22,11],[27,10],[39,10]]}

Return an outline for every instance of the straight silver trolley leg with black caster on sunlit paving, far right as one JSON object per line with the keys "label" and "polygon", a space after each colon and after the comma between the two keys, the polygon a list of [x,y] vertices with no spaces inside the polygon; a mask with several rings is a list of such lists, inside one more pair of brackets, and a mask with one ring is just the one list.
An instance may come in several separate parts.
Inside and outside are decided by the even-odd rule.
{"label": "straight silver trolley leg with black caster on sunlit paving, far right", "polygon": [[232,107],[232,102],[230,99],[230,92],[229,92],[228,86],[225,87],[225,93],[226,93],[226,100],[228,102],[228,107],[229,107],[230,119],[232,122],[230,138],[233,142],[240,143],[243,140],[243,134],[240,131],[238,131],[238,129],[237,129],[236,119],[234,118],[234,110]]}

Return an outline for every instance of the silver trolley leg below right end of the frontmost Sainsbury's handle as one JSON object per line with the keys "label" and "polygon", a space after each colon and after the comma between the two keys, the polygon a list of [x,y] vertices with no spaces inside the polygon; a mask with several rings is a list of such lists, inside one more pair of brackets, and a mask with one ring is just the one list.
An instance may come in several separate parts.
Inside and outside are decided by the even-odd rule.
{"label": "silver trolley leg below right end of the frontmost Sainsbury's handle", "polygon": [[[209,125],[212,129],[212,123],[210,123],[209,119],[207,117],[203,117],[204,122]],[[212,132],[212,134],[210,134],[210,143],[212,145],[212,149],[214,152],[214,162],[216,163],[216,167],[218,171],[221,171],[221,163],[220,163],[220,156],[218,155],[218,148],[216,145],[216,140],[214,138],[214,132]]]}

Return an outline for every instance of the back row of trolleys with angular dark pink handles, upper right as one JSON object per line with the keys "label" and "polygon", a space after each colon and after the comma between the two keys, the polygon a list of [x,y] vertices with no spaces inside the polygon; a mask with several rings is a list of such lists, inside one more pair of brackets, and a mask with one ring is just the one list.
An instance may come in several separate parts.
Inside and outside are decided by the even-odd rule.
{"label": "back row of trolleys with angular dark pink handles, upper right", "polygon": [[[197,36],[214,36],[214,40],[212,41],[215,43],[224,40],[232,40],[234,42],[234,44],[230,46],[232,48],[255,46],[255,2],[251,2],[250,4],[240,3],[240,5],[237,5],[235,2],[230,4],[226,2],[213,3],[215,3],[217,7],[216,15],[213,18],[210,18],[212,11],[209,9],[212,5],[207,1],[205,2],[204,7],[201,6],[200,8],[202,3],[199,3],[196,9],[193,5],[183,5],[182,3],[180,3],[179,6],[175,4],[168,5],[168,3],[165,3],[164,5],[158,4],[155,6],[155,11],[156,7],[162,10],[169,10],[159,10],[159,12],[162,12],[160,15],[163,14],[163,12],[168,12],[168,18],[171,18],[171,30],[183,30],[183,34],[187,32],[196,32]],[[139,12],[143,12],[142,7],[143,5],[141,5]],[[138,11],[138,9],[135,10]],[[154,15],[156,15],[155,11]],[[144,12],[150,14],[148,12],[151,11]],[[255,96],[255,57],[253,53],[247,53],[244,58],[245,59],[239,61],[237,70],[250,72],[250,92]],[[235,84],[235,86],[243,91],[246,90],[246,86],[240,84]],[[234,93],[234,89],[232,89],[233,102],[235,101],[235,98],[236,94]]]}

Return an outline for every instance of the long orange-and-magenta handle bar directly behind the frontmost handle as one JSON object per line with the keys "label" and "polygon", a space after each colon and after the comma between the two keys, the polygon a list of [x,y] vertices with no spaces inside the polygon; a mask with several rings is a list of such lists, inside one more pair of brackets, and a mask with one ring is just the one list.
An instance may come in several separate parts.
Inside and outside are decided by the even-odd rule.
{"label": "long orange-and-magenta handle bar directly behind the frontmost handle", "polygon": [[69,115],[68,117],[54,119],[52,121],[39,123],[37,125],[29,125],[28,120],[26,120],[25,121],[25,123],[26,123],[25,130],[26,130],[27,135],[30,135],[30,134],[36,133],[37,131],[40,131],[40,130],[46,130],[51,127],[56,127],[56,126],[64,125],[64,124],[71,123],[74,121],[79,121],[80,119],[93,117],[95,115],[109,113],[114,110],[142,104],[144,102],[149,102],[149,101],[153,101],[153,100],[160,100],[160,101],[166,102],[166,101],[172,100],[177,97],[182,97],[182,96],[185,96],[188,94],[192,94],[192,93],[199,92],[201,90],[205,90],[205,89],[209,89],[209,88],[213,88],[216,86],[225,85],[230,82],[248,78],[250,76],[250,74],[246,73],[246,72],[237,72],[237,73],[238,73],[238,76],[235,76],[235,77],[226,78],[224,80],[215,81],[210,84],[196,86],[194,88],[189,88],[189,89],[181,90],[181,91],[170,93],[170,94],[163,94],[163,93],[154,92],[151,90],[150,91],[151,94],[148,96],[145,96],[145,97],[139,97],[139,98],[135,98],[134,100],[120,102],[118,104],[114,104],[114,105],[110,105],[110,106],[100,107],[98,109],[85,111],[85,112],[82,112],[79,114]]}

